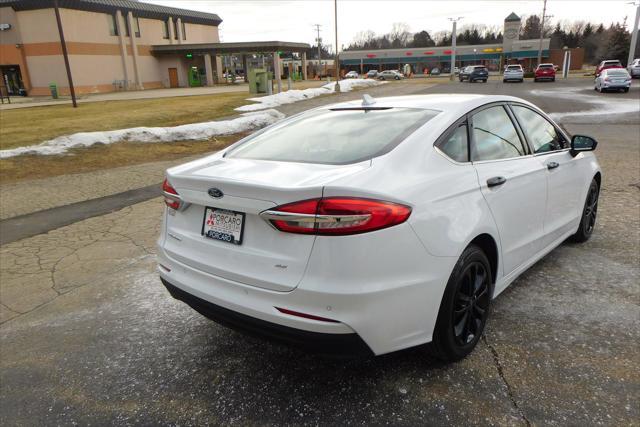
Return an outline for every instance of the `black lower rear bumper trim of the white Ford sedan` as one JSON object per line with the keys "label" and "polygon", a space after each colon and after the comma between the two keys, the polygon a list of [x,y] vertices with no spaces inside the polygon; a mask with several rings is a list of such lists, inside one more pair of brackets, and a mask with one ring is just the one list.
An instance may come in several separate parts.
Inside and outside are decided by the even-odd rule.
{"label": "black lower rear bumper trim of the white Ford sedan", "polygon": [[172,297],[186,303],[203,316],[228,328],[325,356],[373,355],[371,349],[358,334],[311,332],[267,322],[213,304],[183,291],[163,278],[160,278],[160,280]]}

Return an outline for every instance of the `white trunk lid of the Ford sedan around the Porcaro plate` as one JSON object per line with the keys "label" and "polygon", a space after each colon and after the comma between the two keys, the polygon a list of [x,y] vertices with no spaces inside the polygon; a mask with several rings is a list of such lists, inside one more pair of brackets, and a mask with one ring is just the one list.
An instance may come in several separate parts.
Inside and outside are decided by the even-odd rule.
{"label": "white trunk lid of the Ford sedan around the Porcaro plate", "polygon": [[[218,157],[171,169],[168,180],[188,206],[168,211],[164,248],[177,261],[206,273],[290,291],[302,279],[315,236],[278,231],[259,217],[260,212],[322,197],[326,183],[365,170],[370,163],[321,165]],[[218,193],[213,189],[221,197],[214,197]],[[211,214],[238,220],[227,212],[243,217],[240,244],[203,235]]]}

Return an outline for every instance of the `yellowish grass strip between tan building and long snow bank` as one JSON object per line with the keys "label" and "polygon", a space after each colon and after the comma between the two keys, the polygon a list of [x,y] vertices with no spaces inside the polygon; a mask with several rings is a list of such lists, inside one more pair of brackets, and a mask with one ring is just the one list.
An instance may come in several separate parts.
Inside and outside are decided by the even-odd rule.
{"label": "yellowish grass strip between tan building and long snow bank", "polygon": [[0,111],[0,149],[39,144],[76,132],[177,126],[237,114],[248,93],[88,102]]}

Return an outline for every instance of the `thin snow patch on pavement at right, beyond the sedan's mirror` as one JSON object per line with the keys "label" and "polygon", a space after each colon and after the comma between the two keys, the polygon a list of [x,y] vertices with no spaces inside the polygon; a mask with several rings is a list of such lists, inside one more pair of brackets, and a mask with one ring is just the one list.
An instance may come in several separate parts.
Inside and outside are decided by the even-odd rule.
{"label": "thin snow patch on pavement at right, beyond the sedan's mirror", "polygon": [[559,89],[533,89],[530,91],[534,96],[548,96],[562,99],[574,99],[576,101],[593,105],[590,110],[568,111],[561,113],[551,113],[549,116],[558,121],[571,118],[575,122],[593,122],[594,116],[599,116],[599,121],[613,119],[619,114],[640,113],[640,102],[637,99],[616,98],[616,94],[598,93],[593,90],[593,86],[572,87]]}

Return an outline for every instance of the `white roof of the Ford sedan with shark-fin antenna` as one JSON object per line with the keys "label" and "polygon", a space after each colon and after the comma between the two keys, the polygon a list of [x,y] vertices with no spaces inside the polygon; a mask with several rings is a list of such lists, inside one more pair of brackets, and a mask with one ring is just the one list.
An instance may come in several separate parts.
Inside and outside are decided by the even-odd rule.
{"label": "white roof of the Ford sedan with shark-fin antenna", "polygon": [[[466,112],[492,102],[521,102],[532,105],[524,99],[507,95],[479,95],[479,94],[431,94],[408,95],[375,98],[376,103],[372,107],[392,108],[421,108],[425,110],[442,111],[454,115],[463,115]],[[340,102],[326,105],[320,109],[354,108],[361,107],[362,100]]]}

